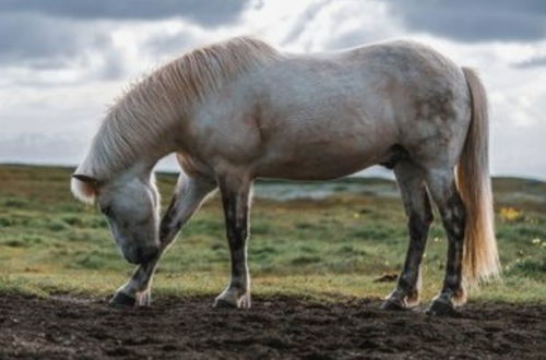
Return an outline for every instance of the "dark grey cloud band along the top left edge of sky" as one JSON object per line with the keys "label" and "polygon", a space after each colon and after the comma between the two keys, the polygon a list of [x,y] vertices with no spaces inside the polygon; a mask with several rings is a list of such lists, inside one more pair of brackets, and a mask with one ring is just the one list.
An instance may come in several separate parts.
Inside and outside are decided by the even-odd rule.
{"label": "dark grey cloud band along the top left edge of sky", "polygon": [[181,16],[215,26],[235,21],[246,5],[246,0],[0,0],[0,12],[32,12],[79,20]]}

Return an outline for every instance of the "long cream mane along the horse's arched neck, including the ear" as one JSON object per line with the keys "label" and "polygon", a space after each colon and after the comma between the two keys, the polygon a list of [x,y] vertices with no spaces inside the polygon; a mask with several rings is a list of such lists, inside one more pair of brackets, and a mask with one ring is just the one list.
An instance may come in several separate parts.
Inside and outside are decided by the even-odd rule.
{"label": "long cream mane along the horse's arched neck, including the ear", "polygon": [[[161,67],[111,106],[75,172],[104,182],[143,154],[161,151],[156,140],[207,94],[278,56],[270,45],[245,36],[197,48]],[[73,179],[71,189],[78,199],[94,201],[88,184]]]}

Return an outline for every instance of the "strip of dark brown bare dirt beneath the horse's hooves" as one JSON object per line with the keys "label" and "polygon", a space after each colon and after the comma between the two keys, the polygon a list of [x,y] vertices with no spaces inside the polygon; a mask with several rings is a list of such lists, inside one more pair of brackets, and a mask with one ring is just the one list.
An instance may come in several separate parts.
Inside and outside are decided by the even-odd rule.
{"label": "strip of dark brown bare dirt beneath the horse's hooves", "polygon": [[0,297],[0,359],[544,359],[546,307],[470,304],[456,317],[378,301],[209,298],[112,309],[103,299]]}

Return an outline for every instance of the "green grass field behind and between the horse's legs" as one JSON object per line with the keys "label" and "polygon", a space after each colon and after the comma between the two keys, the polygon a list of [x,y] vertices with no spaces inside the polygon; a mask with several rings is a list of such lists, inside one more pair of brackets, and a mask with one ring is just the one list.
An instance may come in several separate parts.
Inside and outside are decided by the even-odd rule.
{"label": "green grass field behind and between the horse's legs", "polygon": [[[107,224],[69,191],[71,169],[0,166],[0,292],[109,296],[132,266]],[[164,203],[176,181],[159,175]],[[503,277],[472,300],[546,301],[546,183],[495,179]],[[378,179],[328,183],[260,182],[249,243],[253,293],[320,298],[385,296],[407,245],[395,184]],[[424,299],[439,289],[446,237],[435,221],[424,261]],[[163,259],[154,296],[218,293],[228,277],[217,196],[194,216]]]}

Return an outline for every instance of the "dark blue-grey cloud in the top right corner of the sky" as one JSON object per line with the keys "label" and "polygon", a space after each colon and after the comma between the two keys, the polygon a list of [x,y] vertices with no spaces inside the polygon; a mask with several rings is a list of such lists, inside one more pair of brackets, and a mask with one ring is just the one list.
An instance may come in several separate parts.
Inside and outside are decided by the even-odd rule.
{"label": "dark blue-grey cloud in the top right corner of the sky", "polygon": [[546,37],[544,0],[385,0],[410,29],[462,41]]}

